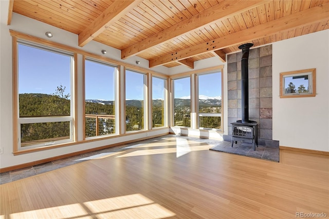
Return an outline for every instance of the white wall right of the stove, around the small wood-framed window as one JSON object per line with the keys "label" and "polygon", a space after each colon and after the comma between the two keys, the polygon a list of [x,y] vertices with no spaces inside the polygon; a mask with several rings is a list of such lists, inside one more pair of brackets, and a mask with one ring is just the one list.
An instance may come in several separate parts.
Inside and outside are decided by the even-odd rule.
{"label": "white wall right of the stove, around the small wood-framed window", "polygon": [[[329,151],[329,30],[273,43],[273,139]],[[316,97],[280,98],[280,72],[316,68]]]}

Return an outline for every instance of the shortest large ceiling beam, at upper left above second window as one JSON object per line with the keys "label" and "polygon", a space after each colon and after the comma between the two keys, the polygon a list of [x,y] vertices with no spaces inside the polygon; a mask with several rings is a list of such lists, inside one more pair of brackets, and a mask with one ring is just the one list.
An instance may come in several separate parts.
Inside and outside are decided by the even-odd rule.
{"label": "shortest large ceiling beam, at upper left above second window", "polygon": [[135,8],[142,0],[114,1],[106,8],[78,37],[79,46],[84,46],[102,33],[107,27],[119,20],[124,14]]}

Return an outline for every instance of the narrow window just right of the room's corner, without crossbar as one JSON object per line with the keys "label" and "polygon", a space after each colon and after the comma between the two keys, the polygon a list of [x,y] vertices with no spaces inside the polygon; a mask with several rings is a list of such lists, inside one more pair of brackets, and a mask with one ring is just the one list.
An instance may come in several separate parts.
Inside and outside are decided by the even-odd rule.
{"label": "narrow window just right of the room's corner, without crossbar", "polygon": [[191,127],[191,79],[173,80],[174,125]]}

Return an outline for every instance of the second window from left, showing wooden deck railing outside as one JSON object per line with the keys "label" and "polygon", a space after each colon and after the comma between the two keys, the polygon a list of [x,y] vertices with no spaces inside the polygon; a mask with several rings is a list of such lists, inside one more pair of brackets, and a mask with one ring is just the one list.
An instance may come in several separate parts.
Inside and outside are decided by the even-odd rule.
{"label": "second window from left, showing wooden deck railing outside", "polygon": [[85,60],[85,137],[116,133],[115,66]]}

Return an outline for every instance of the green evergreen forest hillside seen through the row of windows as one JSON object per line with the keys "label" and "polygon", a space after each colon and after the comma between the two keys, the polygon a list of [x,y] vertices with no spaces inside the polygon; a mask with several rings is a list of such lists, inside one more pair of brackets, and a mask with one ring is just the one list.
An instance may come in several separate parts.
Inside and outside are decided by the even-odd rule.
{"label": "green evergreen forest hillside seen through the row of windows", "polygon": [[[191,126],[190,100],[175,99],[175,125]],[[141,100],[126,100],[125,130],[144,129],[144,107]],[[70,116],[70,95],[65,94],[65,87],[57,87],[56,93],[20,94],[20,118]],[[152,101],[152,127],[164,125],[163,100]],[[221,104],[199,104],[199,113],[221,113]],[[199,117],[199,126],[221,129],[221,117]],[[71,125],[69,121],[21,124],[22,146],[69,139]],[[86,100],[85,136],[93,137],[116,133],[115,102],[102,103]]]}

